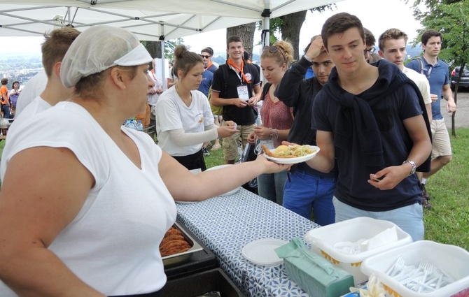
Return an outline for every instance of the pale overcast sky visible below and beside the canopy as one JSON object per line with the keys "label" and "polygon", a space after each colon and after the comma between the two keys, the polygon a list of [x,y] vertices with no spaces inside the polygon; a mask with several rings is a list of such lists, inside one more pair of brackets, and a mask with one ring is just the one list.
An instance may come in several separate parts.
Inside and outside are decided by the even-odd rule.
{"label": "pale overcast sky visible below and beside the canopy", "polygon": [[[413,1],[409,1],[413,2]],[[404,0],[344,0],[337,2],[337,9],[325,13],[307,13],[306,21],[300,32],[300,49],[304,48],[311,36],[321,33],[321,27],[328,17],[335,13],[347,12],[360,18],[363,26],[370,29],[376,39],[379,34],[389,28],[398,28],[407,33],[409,42],[416,37],[416,30],[421,24],[414,20],[411,4],[405,4]],[[226,30],[216,30],[195,36],[183,38],[186,45],[194,52],[200,52],[202,48],[211,46],[215,52],[224,52]],[[41,52],[43,38],[38,37],[0,37],[2,52]],[[254,43],[260,42],[260,33],[255,35]],[[255,48],[260,51],[260,47]]]}

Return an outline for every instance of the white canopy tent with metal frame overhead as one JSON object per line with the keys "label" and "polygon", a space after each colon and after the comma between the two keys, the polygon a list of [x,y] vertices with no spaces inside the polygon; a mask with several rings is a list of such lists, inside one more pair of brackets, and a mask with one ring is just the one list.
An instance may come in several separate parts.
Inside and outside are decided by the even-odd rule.
{"label": "white canopy tent with metal frame overhead", "polygon": [[83,31],[107,24],[130,30],[142,41],[165,41],[262,20],[262,44],[267,45],[270,17],[337,1],[0,0],[0,36],[40,36],[57,27]]}

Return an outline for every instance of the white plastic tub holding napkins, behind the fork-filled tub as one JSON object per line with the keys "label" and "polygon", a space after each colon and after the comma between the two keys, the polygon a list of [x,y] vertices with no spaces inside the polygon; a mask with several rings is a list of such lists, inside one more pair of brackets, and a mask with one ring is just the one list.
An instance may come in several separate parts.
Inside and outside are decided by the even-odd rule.
{"label": "white plastic tub holding napkins, behind the fork-filled tub", "polygon": [[[369,249],[359,254],[344,254],[333,248],[337,242],[356,242],[360,239],[369,239],[393,226],[395,226],[397,231],[398,240],[382,245],[381,247]],[[409,234],[402,231],[402,229],[394,223],[382,219],[372,219],[370,217],[357,217],[355,219],[312,229],[304,235],[304,240],[311,244],[311,250],[313,252],[324,256],[324,258],[328,259],[332,264],[335,264],[353,275],[353,281],[356,287],[361,287],[361,285],[368,280],[368,276],[360,270],[360,265],[364,259],[388,249],[407,245],[412,242],[412,238]]]}

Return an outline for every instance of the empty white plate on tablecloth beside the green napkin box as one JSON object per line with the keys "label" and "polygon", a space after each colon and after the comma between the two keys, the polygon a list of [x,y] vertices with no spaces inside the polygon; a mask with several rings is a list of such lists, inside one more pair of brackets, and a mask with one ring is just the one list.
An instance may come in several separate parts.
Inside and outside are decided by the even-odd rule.
{"label": "empty white plate on tablecloth beside the green napkin box", "polygon": [[262,238],[244,245],[241,254],[251,263],[261,266],[277,266],[283,259],[277,256],[275,249],[286,245],[288,241],[276,238]]}

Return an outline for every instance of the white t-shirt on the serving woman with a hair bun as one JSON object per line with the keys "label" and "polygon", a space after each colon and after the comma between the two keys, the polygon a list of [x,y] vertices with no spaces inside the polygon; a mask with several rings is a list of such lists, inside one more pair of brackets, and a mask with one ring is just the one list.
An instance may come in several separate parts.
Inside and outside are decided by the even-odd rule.
{"label": "white t-shirt on the serving woman with a hair bun", "polygon": [[[206,126],[214,124],[214,116],[207,97],[200,91],[191,91],[193,100],[190,106],[183,103],[176,92],[176,87],[171,87],[163,92],[156,104],[156,131],[158,145],[162,150],[172,156],[188,156],[202,149],[202,140],[195,145],[180,146],[169,137],[169,131],[183,129],[185,133],[200,133]],[[207,131],[207,135],[211,134]],[[214,134],[217,135],[214,131]],[[206,141],[214,139],[209,137]]]}

